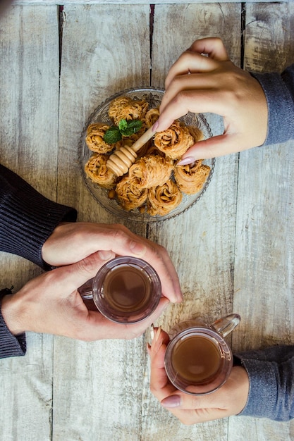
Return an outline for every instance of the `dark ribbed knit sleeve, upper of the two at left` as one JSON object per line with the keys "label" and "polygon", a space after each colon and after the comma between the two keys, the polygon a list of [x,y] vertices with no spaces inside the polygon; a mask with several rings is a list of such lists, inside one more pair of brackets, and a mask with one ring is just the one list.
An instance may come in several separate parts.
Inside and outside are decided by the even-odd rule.
{"label": "dark ribbed knit sleeve, upper of the two at left", "polygon": [[50,201],[25,180],[0,165],[0,250],[18,254],[44,269],[42,245],[61,221],[77,213]]}

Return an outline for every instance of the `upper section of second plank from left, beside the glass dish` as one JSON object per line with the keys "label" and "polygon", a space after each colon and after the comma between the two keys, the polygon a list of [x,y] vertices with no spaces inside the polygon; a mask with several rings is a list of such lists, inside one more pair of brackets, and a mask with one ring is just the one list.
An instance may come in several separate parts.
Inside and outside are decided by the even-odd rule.
{"label": "upper section of second plank from left, beside the glass dish", "polygon": [[[149,7],[68,6],[63,18],[59,202],[75,206],[80,220],[121,223],[88,192],[78,149],[99,104],[121,90],[149,86]],[[136,232],[141,231],[138,224]]]}

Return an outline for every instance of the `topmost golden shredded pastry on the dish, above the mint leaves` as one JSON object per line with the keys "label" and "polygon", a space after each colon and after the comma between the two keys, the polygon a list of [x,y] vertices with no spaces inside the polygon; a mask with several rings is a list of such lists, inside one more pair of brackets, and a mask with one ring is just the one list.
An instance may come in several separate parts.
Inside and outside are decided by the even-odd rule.
{"label": "topmost golden shredded pastry on the dish, above the mint leaves", "polygon": [[149,104],[144,99],[119,97],[109,105],[109,117],[118,125],[120,120],[144,120]]}

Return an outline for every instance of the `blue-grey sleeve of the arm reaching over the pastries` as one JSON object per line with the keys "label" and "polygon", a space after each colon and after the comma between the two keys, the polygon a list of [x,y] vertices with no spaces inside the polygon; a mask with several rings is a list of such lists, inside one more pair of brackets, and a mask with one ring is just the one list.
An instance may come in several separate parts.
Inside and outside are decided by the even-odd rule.
{"label": "blue-grey sleeve of the arm reaching over the pastries", "polygon": [[294,64],[278,73],[251,73],[267,97],[269,120],[263,145],[294,139]]}

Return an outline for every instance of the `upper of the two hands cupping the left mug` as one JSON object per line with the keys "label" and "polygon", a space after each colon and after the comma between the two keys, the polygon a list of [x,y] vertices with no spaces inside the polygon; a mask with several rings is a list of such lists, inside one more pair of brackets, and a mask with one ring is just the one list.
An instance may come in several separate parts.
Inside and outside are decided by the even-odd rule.
{"label": "upper of the two hands cupping the left mug", "polygon": [[62,223],[44,243],[42,257],[49,265],[61,266],[81,261],[97,251],[104,263],[116,256],[147,261],[159,275],[164,297],[170,302],[181,302],[178,275],[166,249],[123,225]]}

